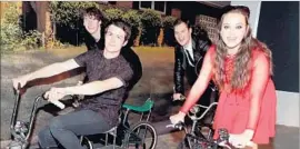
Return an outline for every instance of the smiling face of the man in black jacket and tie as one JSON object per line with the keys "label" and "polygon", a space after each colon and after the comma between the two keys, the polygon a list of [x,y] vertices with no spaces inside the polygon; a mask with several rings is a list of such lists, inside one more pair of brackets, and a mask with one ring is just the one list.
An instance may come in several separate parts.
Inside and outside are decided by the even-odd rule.
{"label": "smiling face of the man in black jacket and tie", "polygon": [[174,27],[174,37],[180,46],[187,46],[190,42],[191,32],[192,29],[188,28],[184,22],[181,22]]}

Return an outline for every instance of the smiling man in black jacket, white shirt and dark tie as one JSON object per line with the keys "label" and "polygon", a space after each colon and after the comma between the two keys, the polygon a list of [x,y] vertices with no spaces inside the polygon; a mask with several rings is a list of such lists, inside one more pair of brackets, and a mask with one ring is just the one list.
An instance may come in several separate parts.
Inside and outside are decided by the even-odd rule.
{"label": "smiling man in black jacket, white shirt and dark tie", "polygon": [[[192,36],[192,28],[188,20],[174,21],[174,37],[178,44],[174,48],[174,93],[173,100],[179,100],[184,95],[183,77],[192,86],[198,78],[207,50],[211,46],[207,34]],[[214,88],[214,85],[211,86]],[[211,101],[211,88],[208,88],[199,103],[209,106]],[[212,97],[213,98],[213,97]]]}

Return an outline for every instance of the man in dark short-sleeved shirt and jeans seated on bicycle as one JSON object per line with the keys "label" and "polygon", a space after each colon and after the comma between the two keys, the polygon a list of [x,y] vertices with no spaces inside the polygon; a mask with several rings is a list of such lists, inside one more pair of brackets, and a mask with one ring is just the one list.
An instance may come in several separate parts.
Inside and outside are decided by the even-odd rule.
{"label": "man in dark short-sleeved shirt and jeans seated on bicycle", "polygon": [[106,28],[103,50],[89,50],[73,59],[44,67],[38,71],[13,79],[24,87],[30,80],[48,78],[61,72],[86,67],[87,82],[82,86],[51,88],[44,93],[49,101],[68,95],[84,95],[80,107],[70,113],[54,117],[38,135],[41,148],[58,147],[81,149],[78,136],[108,131],[118,123],[126,88],[133,76],[127,60],[120,54],[131,36],[130,27],[114,20]]}

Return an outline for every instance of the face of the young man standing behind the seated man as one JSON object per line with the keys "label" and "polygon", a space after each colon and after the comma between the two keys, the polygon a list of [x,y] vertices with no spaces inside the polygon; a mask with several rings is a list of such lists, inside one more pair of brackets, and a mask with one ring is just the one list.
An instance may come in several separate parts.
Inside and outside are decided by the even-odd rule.
{"label": "face of the young man standing behind the seated man", "polygon": [[97,18],[94,16],[84,16],[83,17],[83,26],[87,29],[87,31],[91,34],[96,33],[96,32],[100,32],[101,30],[101,21],[97,20]]}

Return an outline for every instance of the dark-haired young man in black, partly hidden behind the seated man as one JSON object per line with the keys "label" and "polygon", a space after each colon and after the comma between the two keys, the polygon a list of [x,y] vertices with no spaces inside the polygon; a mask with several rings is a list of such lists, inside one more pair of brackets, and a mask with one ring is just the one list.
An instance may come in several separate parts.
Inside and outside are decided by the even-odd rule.
{"label": "dark-haired young man in black, partly hidden behind the seated man", "polygon": [[[103,41],[101,31],[101,24],[103,23],[103,14],[102,12],[94,8],[88,8],[83,12],[83,26],[86,28],[84,42],[88,50],[103,49]],[[138,54],[130,48],[130,46],[123,47],[121,50],[121,54],[124,59],[130,63],[130,67],[133,70],[133,77],[130,80],[128,86],[128,90],[131,90],[133,86],[141,79],[142,77],[142,66]]]}

